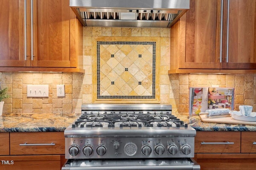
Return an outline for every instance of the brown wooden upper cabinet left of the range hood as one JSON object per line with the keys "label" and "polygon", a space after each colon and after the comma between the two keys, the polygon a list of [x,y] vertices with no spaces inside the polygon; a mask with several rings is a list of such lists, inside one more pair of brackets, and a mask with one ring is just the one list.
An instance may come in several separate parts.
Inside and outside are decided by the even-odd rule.
{"label": "brown wooden upper cabinet left of the range hood", "polygon": [[0,71],[79,71],[82,25],[69,0],[1,0],[0,21]]}

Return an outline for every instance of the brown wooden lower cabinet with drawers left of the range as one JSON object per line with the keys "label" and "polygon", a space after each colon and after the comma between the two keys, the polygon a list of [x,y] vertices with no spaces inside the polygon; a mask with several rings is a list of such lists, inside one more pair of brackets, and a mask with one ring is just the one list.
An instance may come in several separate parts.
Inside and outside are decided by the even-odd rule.
{"label": "brown wooden lower cabinet with drawers left of the range", "polygon": [[61,170],[64,132],[0,133],[0,170]]}

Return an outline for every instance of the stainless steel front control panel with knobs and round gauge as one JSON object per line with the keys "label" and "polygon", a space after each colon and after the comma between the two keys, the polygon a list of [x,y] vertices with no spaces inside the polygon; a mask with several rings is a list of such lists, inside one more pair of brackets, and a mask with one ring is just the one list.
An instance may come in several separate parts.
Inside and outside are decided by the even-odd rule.
{"label": "stainless steel front control panel with knobs and round gauge", "polygon": [[66,159],[192,158],[194,137],[66,138]]}

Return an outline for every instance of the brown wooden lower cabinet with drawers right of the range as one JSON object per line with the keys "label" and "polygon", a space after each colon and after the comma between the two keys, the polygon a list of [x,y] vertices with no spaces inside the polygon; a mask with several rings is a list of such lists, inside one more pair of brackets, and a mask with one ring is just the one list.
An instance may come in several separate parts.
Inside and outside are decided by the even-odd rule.
{"label": "brown wooden lower cabinet with drawers right of the range", "polygon": [[256,132],[197,131],[195,157],[201,170],[256,170]]}

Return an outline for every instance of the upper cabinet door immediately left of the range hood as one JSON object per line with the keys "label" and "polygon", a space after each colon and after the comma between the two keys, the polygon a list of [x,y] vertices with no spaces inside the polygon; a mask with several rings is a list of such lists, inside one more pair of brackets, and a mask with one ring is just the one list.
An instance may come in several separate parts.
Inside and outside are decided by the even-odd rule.
{"label": "upper cabinet door immediately left of the range hood", "polygon": [[76,67],[70,56],[70,21],[75,14],[69,0],[33,1],[34,67]]}

